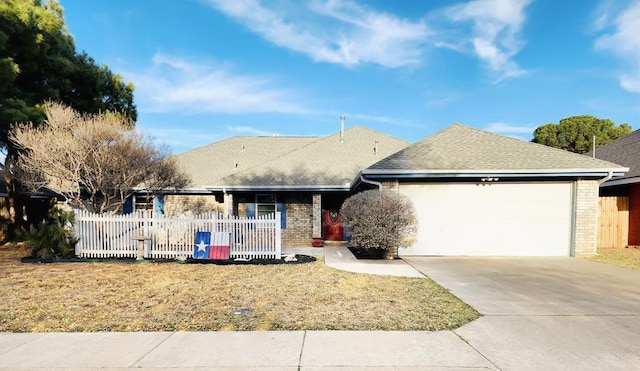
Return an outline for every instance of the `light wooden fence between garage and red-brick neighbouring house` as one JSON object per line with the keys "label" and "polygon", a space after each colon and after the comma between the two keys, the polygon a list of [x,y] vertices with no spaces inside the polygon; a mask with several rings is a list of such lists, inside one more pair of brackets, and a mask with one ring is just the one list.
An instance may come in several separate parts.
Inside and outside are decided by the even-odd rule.
{"label": "light wooden fence between garage and red-brick neighbouring house", "polygon": [[598,247],[626,247],[628,244],[629,197],[600,197]]}

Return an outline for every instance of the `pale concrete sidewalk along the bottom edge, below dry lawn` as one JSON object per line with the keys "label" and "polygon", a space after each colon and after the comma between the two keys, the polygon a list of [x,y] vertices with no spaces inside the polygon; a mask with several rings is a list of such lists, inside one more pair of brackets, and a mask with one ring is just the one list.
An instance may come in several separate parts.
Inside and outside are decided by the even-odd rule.
{"label": "pale concrete sidewalk along the bottom edge, below dry lawn", "polygon": [[451,331],[0,333],[1,370],[496,369]]}

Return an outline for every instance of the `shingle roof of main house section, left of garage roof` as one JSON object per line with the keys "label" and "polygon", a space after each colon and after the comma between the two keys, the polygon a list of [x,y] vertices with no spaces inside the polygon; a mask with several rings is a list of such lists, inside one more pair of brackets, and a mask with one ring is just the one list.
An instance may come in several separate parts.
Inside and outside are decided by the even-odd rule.
{"label": "shingle roof of main house section, left of garage roof", "polygon": [[[344,186],[408,142],[355,126],[327,137],[232,137],[176,155],[194,189]],[[374,148],[377,147],[377,153]]]}

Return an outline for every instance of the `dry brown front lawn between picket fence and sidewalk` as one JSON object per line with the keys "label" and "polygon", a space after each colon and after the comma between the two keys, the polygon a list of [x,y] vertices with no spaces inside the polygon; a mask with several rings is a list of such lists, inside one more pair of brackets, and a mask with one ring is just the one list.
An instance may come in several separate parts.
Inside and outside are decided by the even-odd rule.
{"label": "dry brown front lawn between picket fence and sidewalk", "polygon": [[[479,314],[429,279],[298,265],[21,263],[0,248],[0,331],[443,330]],[[249,314],[234,314],[249,308]]]}

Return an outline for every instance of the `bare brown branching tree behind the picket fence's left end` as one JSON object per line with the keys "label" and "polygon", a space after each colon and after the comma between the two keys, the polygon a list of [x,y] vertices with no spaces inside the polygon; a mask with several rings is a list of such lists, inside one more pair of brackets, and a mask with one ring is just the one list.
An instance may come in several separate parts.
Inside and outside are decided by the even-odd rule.
{"label": "bare brown branching tree behind the picket fence's left end", "polygon": [[10,139],[24,152],[17,173],[32,191],[48,188],[74,206],[116,213],[135,190],[155,192],[189,183],[151,138],[119,115],[80,114],[45,105],[46,125],[17,126]]}

